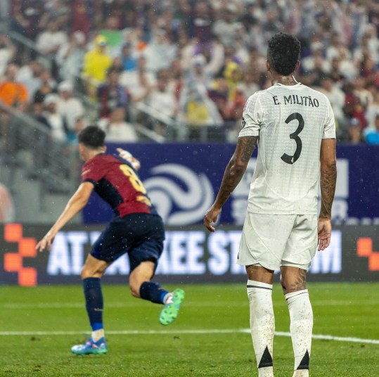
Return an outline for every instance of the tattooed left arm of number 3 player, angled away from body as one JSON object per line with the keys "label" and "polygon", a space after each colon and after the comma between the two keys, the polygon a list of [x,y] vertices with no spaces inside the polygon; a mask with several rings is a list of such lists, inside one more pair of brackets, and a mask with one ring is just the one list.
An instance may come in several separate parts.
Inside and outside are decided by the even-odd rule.
{"label": "tattooed left arm of number 3 player, angled away from body", "polygon": [[217,221],[217,217],[221,212],[221,207],[225,204],[234,188],[236,188],[242,179],[252,152],[254,152],[257,139],[258,136],[241,136],[238,138],[236,151],[234,151],[231,160],[228,165],[226,165],[224,177],[222,178],[221,187],[219,188],[216,200],[214,200],[212,207],[205,212],[204,224],[210,231],[214,231],[212,222]]}

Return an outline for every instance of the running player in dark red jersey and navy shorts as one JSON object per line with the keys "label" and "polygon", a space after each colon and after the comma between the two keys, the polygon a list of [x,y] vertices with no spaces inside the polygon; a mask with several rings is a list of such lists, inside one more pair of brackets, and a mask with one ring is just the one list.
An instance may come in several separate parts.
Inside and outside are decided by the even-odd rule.
{"label": "running player in dark red jersey and navy shorts", "polygon": [[161,324],[172,324],[176,319],[184,300],[184,290],[168,292],[151,281],[163,250],[165,229],[136,174],[139,161],[121,148],[117,149],[119,156],[106,155],[105,132],[97,126],[83,129],[78,139],[80,158],[84,161],[82,184],[36,248],[50,250],[58,231],[84,208],[92,191],[113,208],[115,217],[94,243],[82,268],[91,338],[84,345],[75,345],[71,349],[75,354],[103,354],[107,352],[107,345],[101,277],[118,257],[124,253],[129,256],[131,295],[165,305],[159,317]]}

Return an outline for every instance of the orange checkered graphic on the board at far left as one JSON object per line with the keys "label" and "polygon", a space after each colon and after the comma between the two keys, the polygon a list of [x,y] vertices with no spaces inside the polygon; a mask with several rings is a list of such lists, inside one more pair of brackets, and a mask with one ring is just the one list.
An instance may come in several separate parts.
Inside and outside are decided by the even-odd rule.
{"label": "orange checkered graphic on the board at far left", "polygon": [[37,241],[34,238],[23,237],[21,224],[6,224],[4,226],[4,240],[9,243],[18,243],[17,253],[4,255],[4,269],[8,272],[18,273],[20,286],[36,286],[37,270],[32,267],[23,267],[23,258],[37,256]]}

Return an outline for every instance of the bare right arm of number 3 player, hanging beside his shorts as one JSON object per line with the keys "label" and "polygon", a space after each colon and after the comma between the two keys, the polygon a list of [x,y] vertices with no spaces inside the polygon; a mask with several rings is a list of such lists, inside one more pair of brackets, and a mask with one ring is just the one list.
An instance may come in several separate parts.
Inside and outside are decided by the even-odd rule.
{"label": "bare right arm of number 3 player, hanging beside his shorts", "polygon": [[321,141],[321,209],[319,215],[319,250],[324,250],[330,244],[332,232],[331,217],[332,204],[337,180],[337,168],[335,162],[335,139],[323,139]]}

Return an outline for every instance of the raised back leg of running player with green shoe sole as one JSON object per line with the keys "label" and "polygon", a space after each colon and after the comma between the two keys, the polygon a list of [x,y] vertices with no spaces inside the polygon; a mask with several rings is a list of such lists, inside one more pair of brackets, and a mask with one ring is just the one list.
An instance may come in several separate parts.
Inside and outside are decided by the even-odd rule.
{"label": "raised back leg of running player with green shoe sole", "polygon": [[154,271],[155,262],[150,260],[141,262],[133,269],[129,275],[131,294],[136,298],[165,305],[160,313],[159,320],[162,325],[169,325],[178,317],[185,296],[184,290],[178,288],[169,292],[160,284],[150,281],[153,278]]}

